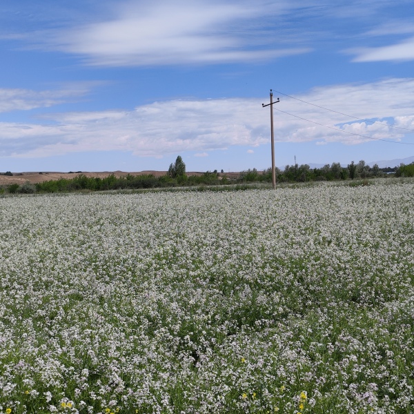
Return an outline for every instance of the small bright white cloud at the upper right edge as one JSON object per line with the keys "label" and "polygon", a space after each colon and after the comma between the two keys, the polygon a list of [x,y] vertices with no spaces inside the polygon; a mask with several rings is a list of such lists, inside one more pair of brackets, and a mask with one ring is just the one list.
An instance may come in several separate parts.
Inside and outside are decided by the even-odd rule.
{"label": "small bright white cloud at the upper right edge", "polygon": [[411,61],[414,60],[414,37],[391,46],[359,48],[348,52],[356,55],[355,62]]}

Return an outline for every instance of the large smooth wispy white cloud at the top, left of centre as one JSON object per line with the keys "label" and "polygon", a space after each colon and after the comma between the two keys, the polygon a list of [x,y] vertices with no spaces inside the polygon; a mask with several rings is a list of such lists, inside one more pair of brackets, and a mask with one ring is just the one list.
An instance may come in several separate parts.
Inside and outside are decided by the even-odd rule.
{"label": "large smooth wispy white cloud at the top, left of centre", "polygon": [[265,20],[296,7],[263,0],[128,1],[110,19],[38,36],[49,48],[79,55],[91,65],[263,61],[310,50],[295,43],[275,46],[273,30],[257,30],[257,19],[266,26]]}

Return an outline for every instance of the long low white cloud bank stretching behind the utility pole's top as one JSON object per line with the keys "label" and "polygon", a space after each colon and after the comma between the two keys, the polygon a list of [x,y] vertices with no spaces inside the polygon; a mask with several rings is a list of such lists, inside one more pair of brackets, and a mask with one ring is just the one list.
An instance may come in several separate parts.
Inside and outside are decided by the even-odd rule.
{"label": "long low white cloud bank stretching behind the utility pole's top", "polygon": [[[274,92],[274,97],[277,96]],[[354,145],[369,141],[359,135],[400,141],[408,134],[406,141],[409,132],[389,125],[414,129],[414,79],[327,86],[298,96],[337,112],[380,120],[379,124],[350,119],[283,95],[279,97],[274,117],[276,143],[315,141]],[[231,146],[251,148],[270,141],[269,108],[262,108],[265,101],[266,97],[174,100],[154,102],[135,110],[51,114],[45,124],[3,122],[0,155],[44,157],[67,152],[124,150],[150,157],[184,151],[194,151],[200,156]],[[311,124],[277,109],[357,135]]]}

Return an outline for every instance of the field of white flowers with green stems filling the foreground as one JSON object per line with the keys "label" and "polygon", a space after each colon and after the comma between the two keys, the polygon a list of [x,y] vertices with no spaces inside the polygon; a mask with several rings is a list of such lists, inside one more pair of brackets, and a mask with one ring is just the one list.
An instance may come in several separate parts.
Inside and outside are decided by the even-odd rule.
{"label": "field of white flowers with green stems filling the foreground", "polygon": [[412,413],[413,201],[1,198],[0,413]]}

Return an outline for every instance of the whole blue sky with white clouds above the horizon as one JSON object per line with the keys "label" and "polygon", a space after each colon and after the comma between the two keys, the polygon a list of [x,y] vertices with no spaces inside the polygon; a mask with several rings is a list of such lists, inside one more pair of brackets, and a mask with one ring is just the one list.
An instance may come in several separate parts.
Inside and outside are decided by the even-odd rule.
{"label": "whole blue sky with white clouds above the horizon", "polygon": [[3,172],[262,170],[270,89],[277,166],[414,155],[412,0],[3,0],[0,51]]}

